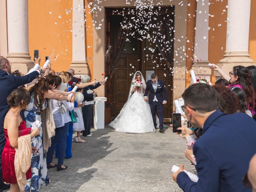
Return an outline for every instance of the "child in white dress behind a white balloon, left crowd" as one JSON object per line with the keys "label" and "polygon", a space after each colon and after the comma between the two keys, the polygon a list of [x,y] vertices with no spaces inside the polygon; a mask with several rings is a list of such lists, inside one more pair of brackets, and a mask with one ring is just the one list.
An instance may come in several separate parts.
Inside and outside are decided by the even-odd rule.
{"label": "child in white dress behind a white balloon, left crowd", "polygon": [[[78,88],[78,89],[76,90],[76,92],[83,93],[83,89],[82,89],[82,88]],[[77,132],[77,136],[76,136],[75,138],[73,138],[73,140],[74,140],[75,142],[81,142],[81,143],[86,142],[85,140],[82,140],[82,139],[80,138],[81,131],[84,130],[84,120],[83,120],[83,114],[82,114],[82,107],[83,107],[84,105],[85,105],[85,102],[78,103],[78,102],[75,100],[74,111],[77,113],[78,118],[77,118],[77,123],[74,123],[74,126],[73,126],[73,130]]]}

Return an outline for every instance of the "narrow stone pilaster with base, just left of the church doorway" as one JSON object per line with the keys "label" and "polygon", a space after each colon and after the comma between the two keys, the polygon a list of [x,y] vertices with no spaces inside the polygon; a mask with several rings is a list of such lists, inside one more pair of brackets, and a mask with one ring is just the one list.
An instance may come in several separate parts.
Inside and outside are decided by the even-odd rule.
{"label": "narrow stone pilaster with base, just left of the church doorway", "polygon": [[86,59],[84,0],[73,0],[72,62],[76,75],[90,74]]}

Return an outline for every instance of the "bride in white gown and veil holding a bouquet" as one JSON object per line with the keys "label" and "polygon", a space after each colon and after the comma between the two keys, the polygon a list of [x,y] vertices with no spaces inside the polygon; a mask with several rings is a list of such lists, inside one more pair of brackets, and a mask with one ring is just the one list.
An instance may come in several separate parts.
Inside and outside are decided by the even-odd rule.
{"label": "bride in white gown and veil holding a bouquet", "polygon": [[148,102],[144,101],[146,82],[140,71],[137,71],[130,86],[126,104],[114,121],[110,123],[116,131],[125,133],[156,132]]}

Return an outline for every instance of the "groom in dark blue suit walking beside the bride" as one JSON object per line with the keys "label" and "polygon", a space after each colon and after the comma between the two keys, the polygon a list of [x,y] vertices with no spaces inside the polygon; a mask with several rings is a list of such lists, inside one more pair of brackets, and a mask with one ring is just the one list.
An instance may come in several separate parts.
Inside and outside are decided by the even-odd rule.
{"label": "groom in dark blue suit walking beside the bride", "polygon": [[[167,103],[167,90],[164,82],[158,80],[155,73],[151,74],[151,80],[148,80],[144,100],[148,101],[148,91],[149,94],[149,104],[151,108],[152,118],[154,126],[156,128],[156,110],[158,111],[159,118],[159,132],[164,132],[164,105]],[[164,96],[163,96],[164,93]]]}

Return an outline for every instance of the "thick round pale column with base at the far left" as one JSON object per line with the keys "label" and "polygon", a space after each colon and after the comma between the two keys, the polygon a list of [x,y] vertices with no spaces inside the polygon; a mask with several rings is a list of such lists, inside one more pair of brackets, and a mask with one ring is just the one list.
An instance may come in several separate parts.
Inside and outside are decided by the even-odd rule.
{"label": "thick round pale column with base at the far left", "polygon": [[28,0],[7,1],[8,60],[12,71],[26,74],[33,66],[28,52]]}

